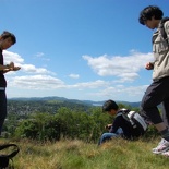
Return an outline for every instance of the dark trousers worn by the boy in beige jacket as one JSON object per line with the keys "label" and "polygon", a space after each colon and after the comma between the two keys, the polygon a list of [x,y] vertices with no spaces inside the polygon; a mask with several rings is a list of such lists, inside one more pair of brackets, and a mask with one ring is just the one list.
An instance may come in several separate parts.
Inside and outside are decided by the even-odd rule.
{"label": "dark trousers worn by the boy in beige jacket", "polygon": [[164,119],[169,121],[169,76],[153,82],[146,89],[141,102],[141,109],[154,124],[166,122],[162,120],[158,105],[162,104]]}

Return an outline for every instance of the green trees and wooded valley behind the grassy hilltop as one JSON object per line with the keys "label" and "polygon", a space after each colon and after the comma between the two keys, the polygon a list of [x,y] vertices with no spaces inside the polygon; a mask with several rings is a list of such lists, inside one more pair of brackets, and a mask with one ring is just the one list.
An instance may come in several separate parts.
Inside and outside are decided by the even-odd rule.
{"label": "green trees and wooded valley behind the grassy hilltop", "polygon": [[[119,104],[119,107],[132,109],[123,104]],[[3,128],[5,137],[97,142],[102,132],[106,132],[105,125],[112,122],[112,117],[102,113],[101,107],[73,102],[11,101],[8,109]],[[134,110],[138,111],[138,108]],[[157,135],[154,128],[148,132]]]}

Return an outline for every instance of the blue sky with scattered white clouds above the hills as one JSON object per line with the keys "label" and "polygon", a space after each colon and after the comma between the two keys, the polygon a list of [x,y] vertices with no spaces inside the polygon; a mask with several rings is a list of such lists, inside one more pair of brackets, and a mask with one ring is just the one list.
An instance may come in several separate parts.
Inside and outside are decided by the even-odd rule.
{"label": "blue sky with scattered white clouds above the hills", "polygon": [[152,83],[152,29],[141,10],[168,0],[1,0],[0,32],[17,43],[4,61],[21,70],[5,74],[7,96],[59,96],[80,100],[141,101]]}

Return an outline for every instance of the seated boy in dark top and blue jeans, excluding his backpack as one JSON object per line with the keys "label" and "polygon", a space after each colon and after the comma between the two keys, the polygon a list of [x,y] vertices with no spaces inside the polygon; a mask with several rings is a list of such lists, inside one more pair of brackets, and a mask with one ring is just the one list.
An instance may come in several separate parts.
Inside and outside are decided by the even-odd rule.
{"label": "seated boy in dark top and blue jeans, excluding his backpack", "polygon": [[[107,100],[102,106],[102,111],[108,112],[114,117],[112,124],[108,124],[106,129],[109,129],[108,133],[104,133],[98,142],[98,145],[111,140],[112,137],[122,137],[126,140],[134,140],[144,134],[141,128],[133,128],[130,120],[123,116],[126,109],[119,109],[119,106],[113,100]],[[145,124],[146,125],[146,124]]]}

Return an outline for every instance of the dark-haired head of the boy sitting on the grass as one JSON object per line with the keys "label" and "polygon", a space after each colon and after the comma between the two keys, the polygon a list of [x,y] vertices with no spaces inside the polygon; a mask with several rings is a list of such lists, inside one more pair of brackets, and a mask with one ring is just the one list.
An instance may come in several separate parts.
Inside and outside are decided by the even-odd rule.
{"label": "dark-haired head of the boy sitting on the grass", "polygon": [[102,111],[108,112],[111,116],[116,114],[118,110],[119,106],[117,105],[116,101],[111,99],[105,101],[105,104],[102,105]]}

